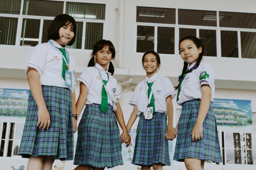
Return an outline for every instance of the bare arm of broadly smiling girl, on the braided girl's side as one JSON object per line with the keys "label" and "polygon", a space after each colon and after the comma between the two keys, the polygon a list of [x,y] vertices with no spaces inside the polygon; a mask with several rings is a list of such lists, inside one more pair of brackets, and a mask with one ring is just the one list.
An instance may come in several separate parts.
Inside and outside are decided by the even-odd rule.
{"label": "bare arm of broadly smiling girl, on the braided girl's side", "polygon": [[172,105],[172,96],[169,95],[166,98],[167,114],[168,114],[168,125],[167,131],[165,133],[165,138],[167,140],[173,140],[176,137],[175,129],[173,128],[173,105]]}

